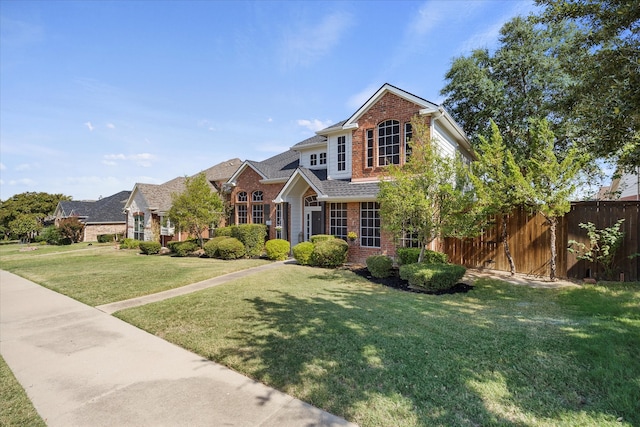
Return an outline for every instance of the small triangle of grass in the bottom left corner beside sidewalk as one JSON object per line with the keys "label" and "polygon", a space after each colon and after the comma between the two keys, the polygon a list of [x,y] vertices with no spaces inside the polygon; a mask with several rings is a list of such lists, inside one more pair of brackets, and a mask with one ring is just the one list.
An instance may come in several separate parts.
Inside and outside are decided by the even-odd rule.
{"label": "small triangle of grass in the bottom left corner beside sidewalk", "polygon": [[24,389],[0,357],[0,426],[44,426]]}

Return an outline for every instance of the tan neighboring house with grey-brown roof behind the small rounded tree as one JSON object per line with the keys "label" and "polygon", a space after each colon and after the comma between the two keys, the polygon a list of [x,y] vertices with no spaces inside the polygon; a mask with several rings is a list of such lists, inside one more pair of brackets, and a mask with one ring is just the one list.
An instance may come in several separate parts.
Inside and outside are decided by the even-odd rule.
{"label": "tan neighboring house with grey-brown roof behind the small rounded tree", "polygon": [[[204,173],[211,191],[219,192],[231,175],[242,164],[240,159],[231,159],[210,167]],[[195,176],[195,175],[194,175]],[[169,221],[171,197],[185,190],[185,177],[174,178],[164,184],[137,183],[131,191],[124,210],[127,218],[127,237],[136,240],[156,240],[166,246],[171,240],[184,240],[189,236],[177,232]],[[205,236],[208,237],[208,236]]]}

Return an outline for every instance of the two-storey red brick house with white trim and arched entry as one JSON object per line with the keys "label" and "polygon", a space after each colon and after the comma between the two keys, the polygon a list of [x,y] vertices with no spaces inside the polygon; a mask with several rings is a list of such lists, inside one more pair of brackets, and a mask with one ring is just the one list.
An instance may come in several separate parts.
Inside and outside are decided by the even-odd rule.
{"label": "two-storey red brick house with white trim and arched entry", "polygon": [[312,235],[346,239],[354,231],[351,261],[373,254],[395,255],[395,243],[381,232],[378,183],[388,165],[410,156],[411,118],[423,116],[443,155],[471,158],[462,129],[440,106],[389,84],[383,85],[347,120],[261,162],[245,161],[225,190],[233,206],[231,223],[264,223],[269,238],[292,246]]}

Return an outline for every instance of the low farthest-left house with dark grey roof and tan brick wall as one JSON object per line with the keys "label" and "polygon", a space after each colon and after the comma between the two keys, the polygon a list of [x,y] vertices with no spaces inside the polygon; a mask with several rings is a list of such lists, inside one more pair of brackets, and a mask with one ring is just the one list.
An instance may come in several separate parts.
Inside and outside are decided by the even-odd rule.
{"label": "low farthest-left house with dark grey roof and tan brick wall", "polygon": [[127,217],[122,209],[130,194],[130,191],[121,191],[99,200],[58,202],[53,213],[55,225],[59,226],[63,219],[77,217],[84,224],[84,242],[97,241],[101,234],[124,236],[127,231]]}

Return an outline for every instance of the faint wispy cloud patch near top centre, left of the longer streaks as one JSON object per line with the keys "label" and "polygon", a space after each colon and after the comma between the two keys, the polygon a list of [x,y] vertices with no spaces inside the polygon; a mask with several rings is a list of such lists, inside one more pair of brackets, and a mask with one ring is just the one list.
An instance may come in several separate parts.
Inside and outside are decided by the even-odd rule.
{"label": "faint wispy cloud patch near top centre, left of the longer streaks", "polygon": [[337,12],[320,19],[315,26],[308,22],[301,23],[285,35],[285,66],[309,66],[327,55],[338,45],[351,21],[350,15]]}

